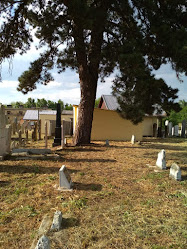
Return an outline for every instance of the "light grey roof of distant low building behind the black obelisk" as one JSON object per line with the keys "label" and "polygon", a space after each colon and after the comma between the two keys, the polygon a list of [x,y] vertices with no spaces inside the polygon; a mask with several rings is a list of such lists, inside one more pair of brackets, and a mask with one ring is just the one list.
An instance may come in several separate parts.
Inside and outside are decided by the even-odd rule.
{"label": "light grey roof of distant low building behind the black obelisk", "polygon": [[[39,115],[56,115],[56,110],[40,110]],[[63,110],[62,115],[73,115],[73,111]],[[38,120],[38,110],[27,110],[23,120]]]}

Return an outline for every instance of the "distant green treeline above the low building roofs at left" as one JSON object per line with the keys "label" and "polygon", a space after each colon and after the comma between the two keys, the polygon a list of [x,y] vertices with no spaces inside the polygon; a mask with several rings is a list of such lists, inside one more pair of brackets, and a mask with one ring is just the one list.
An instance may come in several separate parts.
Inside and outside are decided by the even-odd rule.
{"label": "distant green treeline above the low building roofs at left", "polygon": [[46,100],[44,98],[37,100],[28,98],[27,102],[25,103],[17,101],[17,102],[11,102],[10,105],[12,105],[13,108],[19,108],[20,106],[23,106],[25,108],[39,107],[39,108],[56,109],[57,103],[61,105],[61,110],[73,110],[73,106],[71,104],[68,103],[64,104],[64,102],[60,99],[57,102],[54,102],[52,100]]}

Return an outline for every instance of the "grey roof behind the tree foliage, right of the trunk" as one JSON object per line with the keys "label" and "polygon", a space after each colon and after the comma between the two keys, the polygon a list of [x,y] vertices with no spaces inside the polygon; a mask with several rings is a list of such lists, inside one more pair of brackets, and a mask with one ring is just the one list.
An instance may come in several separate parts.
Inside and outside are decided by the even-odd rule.
{"label": "grey roof behind the tree foliage, right of the trunk", "polygon": [[[101,108],[103,102],[105,103],[107,110],[116,111],[117,109],[120,109],[120,105],[118,104],[116,97],[113,95],[102,95],[98,105],[99,108]],[[145,116],[166,116],[166,112],[162,110],[161,113],[158,113],[158,106],[155,106],[153,114],[146,114]]]}

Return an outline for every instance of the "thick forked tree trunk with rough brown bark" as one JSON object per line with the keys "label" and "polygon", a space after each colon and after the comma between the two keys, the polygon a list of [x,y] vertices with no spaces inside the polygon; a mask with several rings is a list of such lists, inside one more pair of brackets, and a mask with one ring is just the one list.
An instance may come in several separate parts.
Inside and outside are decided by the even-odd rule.
{"label": "thick forked tree trunk with rough brown bark", "polygon": [[[102,7],[102,6],[101,6]],[[103,7],[102,7],[103,8]],[[101,45],[103,42],[104,22],[106,12],[101,19],[95,19],[92,27],[89,49],[86,49],[83,27],[79,20],[74,19],[74,40],[76,57],[79,65],[79,79],[81,90],[81,101],[79,105],[78,122],[76,124],[74,144],[89,144],[93,112],[97,91],[99,64],[101,59]]]}

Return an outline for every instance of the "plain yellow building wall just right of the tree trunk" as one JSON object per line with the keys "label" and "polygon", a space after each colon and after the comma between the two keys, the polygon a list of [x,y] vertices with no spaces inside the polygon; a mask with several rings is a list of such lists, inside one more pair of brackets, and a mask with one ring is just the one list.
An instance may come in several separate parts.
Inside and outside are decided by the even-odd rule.
{"label": "plain yellow building wall just right of the tree trunk", "polygon": [[124,140],[129,141],[132,135],[136,140],[143,138],[143,124],[133,125],[123,119],[119,113],[111,110],[94,109],[91,140]]}

